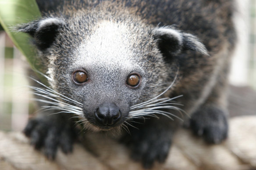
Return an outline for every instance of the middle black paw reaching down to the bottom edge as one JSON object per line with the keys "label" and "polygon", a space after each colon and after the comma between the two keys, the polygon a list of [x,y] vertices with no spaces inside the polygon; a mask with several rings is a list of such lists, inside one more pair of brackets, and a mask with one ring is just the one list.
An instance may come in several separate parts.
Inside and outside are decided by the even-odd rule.
{"label": "middle black paw reaching down to the bottom edge", "polygon": [[163,163],[166,160],[171,134],[154,127],[136,129],[129,136],[128,146],[132,149],[132,159],[142,161],[143,167],[149,169],[155,161]]}

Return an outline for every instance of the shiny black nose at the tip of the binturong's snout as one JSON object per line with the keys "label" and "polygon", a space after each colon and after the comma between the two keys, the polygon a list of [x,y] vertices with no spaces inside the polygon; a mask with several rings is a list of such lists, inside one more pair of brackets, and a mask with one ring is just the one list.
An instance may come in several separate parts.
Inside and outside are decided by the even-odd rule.
{"label": "shiny black nose at the tip of the binturong's snout", "polygon": [[114,103],[103,103],[96,109],[94,117],[101,125],[114,125],[121,119],[121,112]]}

